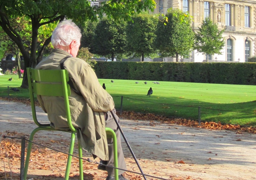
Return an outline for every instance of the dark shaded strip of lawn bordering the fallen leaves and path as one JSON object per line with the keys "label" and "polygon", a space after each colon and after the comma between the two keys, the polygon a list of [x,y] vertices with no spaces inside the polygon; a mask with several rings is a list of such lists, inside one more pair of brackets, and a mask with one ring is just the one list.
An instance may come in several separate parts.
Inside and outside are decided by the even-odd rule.
{"label": "dark shaded strip of lawn bordering the fallen leaves and path", "polygon": [[[127,98],[129,97],[129,98]],[[120,109],[120,97],[113,97],[116,109]],[[202,122],[256,126],[255,101],[244,103],[208,103],[176,97],[145,98],[127,95],[123,98],[122,110],[153,113],[167,117],[198,120],[199,107]]]}

